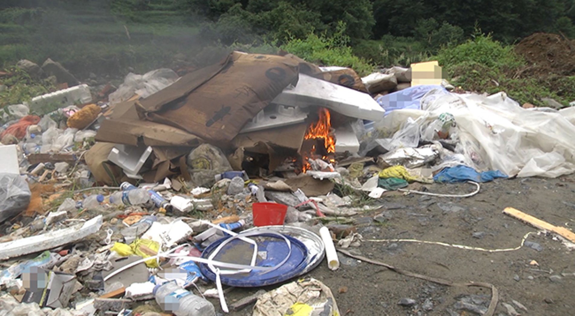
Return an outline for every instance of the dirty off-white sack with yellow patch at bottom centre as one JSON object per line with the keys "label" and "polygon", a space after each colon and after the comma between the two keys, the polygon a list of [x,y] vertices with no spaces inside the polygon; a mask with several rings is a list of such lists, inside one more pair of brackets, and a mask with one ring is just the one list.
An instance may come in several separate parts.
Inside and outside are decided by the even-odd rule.
{"label": "dirty off-white sack with yellow patch at bottom centre", "polygon": [[338,304],[329,287],[308,278],[287,283],[260,295],[252,316],[339,316]]}

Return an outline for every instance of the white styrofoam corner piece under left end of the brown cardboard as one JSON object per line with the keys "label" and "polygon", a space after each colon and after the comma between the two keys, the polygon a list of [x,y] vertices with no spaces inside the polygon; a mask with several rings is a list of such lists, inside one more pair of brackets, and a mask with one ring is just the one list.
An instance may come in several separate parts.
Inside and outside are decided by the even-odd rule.
{"label": "white styrofoam corner piece under left end of the brown cardboard", "polygon": [[128,178],[141,179],[141,167],[152,154],[152,147],[136,147],[129,145],[117,145],[110,151],[108,160],[124,170]]}

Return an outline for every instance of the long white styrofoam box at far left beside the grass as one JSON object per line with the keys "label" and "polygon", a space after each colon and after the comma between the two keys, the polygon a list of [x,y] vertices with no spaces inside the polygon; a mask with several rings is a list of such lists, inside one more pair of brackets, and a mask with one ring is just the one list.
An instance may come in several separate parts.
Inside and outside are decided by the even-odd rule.
{"label": "long white styrofoam box at far left beside the grass", "polygon": [[76,85],[71,88],[47,93],[33,97],[28,106],[30,110],[39,110],[48,104],[60,104],[59,108],[74,104],[86,104],[92,102],[90,87],[87,84]]}

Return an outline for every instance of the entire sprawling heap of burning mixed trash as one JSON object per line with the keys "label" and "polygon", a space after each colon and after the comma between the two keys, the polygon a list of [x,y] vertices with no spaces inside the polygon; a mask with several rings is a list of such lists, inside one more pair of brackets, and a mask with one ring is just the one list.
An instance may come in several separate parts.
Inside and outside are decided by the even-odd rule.
{"label": "entire sprawling heap of burning mixed trash", "polygon": [[[385,194],[470,181],[475,192],[447,195],[466,197],[493,178],[575,170],[573,108],[451,90],[436,63],[361,79],[233,52],[182,77],[131,73],[117,89],[74,85],[9,106],[0,306],[135,315],[156,302],[158,313],[215,315],[255,302],[254,315],[339,315],[315,279],[244,305],[228,305],[226,287],[285,283],[324,257],[336,270],[334,240],[362,236],[330,222],[378,209]],[[275,299],[286,291],[313,295]]]}

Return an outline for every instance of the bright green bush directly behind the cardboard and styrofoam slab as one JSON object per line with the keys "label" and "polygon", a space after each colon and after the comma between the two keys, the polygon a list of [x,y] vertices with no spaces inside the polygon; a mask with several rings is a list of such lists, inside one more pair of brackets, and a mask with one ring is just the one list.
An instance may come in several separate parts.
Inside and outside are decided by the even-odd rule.
{"label": "bright green bush directly behind the cardboard and styrofoam slab", "polygon": [[344,30],[345,25],[340,22],[335,34],[331,37],[325,33],[320,36],[310,33],[304,40],[292,37],[280,48],[310,63],[349,67],[360,76],[368,75],[373,71],[374,66],[364,58],[354,55],[351,47],[347,45],[350,39],[344,35]]}

